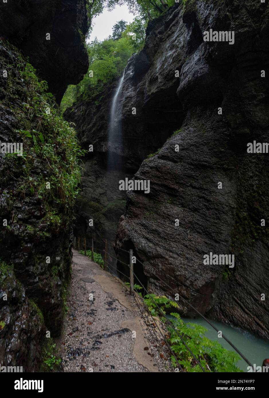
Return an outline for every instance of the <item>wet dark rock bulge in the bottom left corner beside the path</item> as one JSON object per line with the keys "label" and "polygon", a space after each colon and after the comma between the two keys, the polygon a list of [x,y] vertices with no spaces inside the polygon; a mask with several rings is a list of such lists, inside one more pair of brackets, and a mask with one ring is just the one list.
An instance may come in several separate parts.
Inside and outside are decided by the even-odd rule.
{"label": "wet dark rock bulge in the bottom left corner beside the path", "polygon": [[45,332],[42,317],[25,296],[25,289],[14,273],[3,272],[1,267],[0,320],[1,366],[22,366],[24,372],[38,371],[39,341]]}

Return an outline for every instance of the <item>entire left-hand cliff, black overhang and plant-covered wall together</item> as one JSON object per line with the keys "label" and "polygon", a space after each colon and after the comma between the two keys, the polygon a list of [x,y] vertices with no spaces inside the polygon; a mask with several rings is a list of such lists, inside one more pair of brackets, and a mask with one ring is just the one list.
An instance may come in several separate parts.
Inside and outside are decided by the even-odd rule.
{"label": "entire left-hand cliff, black overhang and plant-covered wall together", "polygon": [[[68,189],[76,178],[68,145],[75,132],[58,116],[46,84],[21,53],[59,101],[66,85],[87,70],[78,31],[85,32],[87,18],[84,1],[0,4],[0,141],[23,143],[22,156],[0,156],[0,363],[35,371],[47,331],[58,336],[62,325],[72,262],[74,203]],[[48,44],[43,33],[50,31],[55,37]],[[66,49],[72,38],[73,48]]]}

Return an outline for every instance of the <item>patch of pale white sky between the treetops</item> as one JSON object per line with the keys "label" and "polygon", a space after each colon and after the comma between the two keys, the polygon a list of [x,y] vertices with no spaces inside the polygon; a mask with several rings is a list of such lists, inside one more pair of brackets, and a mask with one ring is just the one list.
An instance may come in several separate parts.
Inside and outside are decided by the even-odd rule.
{"label": "patch of pale white sky between the treetops", "polygon": [[104,40],[109,35],[112,36],[112,27],[117,21],[124,20],[127,23],[132,22],[134,19],[133,14],[128,11],[127,5],[117,6],[113,11],[105,9],[102,14],[98,15],[93,20],[94,28],[90,35],[90,41],[97,37],[98,40]]}

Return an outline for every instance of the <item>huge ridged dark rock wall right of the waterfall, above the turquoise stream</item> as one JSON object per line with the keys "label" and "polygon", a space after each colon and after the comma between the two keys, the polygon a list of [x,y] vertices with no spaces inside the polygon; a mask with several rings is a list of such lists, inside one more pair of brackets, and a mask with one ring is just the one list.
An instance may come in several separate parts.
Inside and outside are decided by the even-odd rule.
{"label": "huge ridged dark rock wall right of the waterfall, above the turquoise stream", "polygon": [[[268,79],[261,78],[268,64],[267,5],[187,2],[185,10],[174,6],[149,25],[144,49],[125,70],[125,134],[127,126],[136,129],[131,106],[145,135],[148,115],[157,122],[161,108],[177,120],[179,132],[136,172],[134,179],[150,180],[150,193],[127,193],[116,240],[119,260],[126,261],[120,248],[133,248],[142,261],[151,291],[173,297],[178,292],[200,312],[265,338],[269,164],[267,154],[246,150],[253,140],[268,142]],[[234,31],[234,44],[205,42],[203,32],[210,29]],[[234,268],[204,265],[210,252],[234,254]]]}

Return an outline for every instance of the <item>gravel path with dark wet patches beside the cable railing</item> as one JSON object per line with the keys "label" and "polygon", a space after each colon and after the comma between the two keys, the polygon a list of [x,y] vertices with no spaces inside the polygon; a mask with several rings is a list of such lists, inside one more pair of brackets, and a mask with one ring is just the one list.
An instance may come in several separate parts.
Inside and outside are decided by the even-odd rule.
{"label": "gravel path with dark wet patches beside the cable railing", "polygon": [[124,285],[73,253],[69,310],[59,339],[64,371],[169,371],[169,361],[161,361],[156,350],[158,338],[147,332],[141,309]]}

